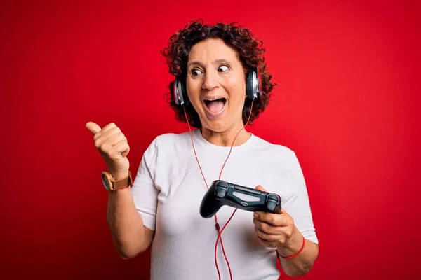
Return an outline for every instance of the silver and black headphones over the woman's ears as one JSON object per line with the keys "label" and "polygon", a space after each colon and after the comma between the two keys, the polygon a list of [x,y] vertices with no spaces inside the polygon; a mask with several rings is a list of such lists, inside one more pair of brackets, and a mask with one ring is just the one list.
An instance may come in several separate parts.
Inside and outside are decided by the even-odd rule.
{"label": "silver and black headphones over the woman's ears", "polygon": [[[175,78],[173,92],[175,104],[189,106],[189,97],[187,96],[187,87],[184,79]],[[262,84],[260,83],[258,67],[247,73],[246,95],[251,100],[262,96]]]}

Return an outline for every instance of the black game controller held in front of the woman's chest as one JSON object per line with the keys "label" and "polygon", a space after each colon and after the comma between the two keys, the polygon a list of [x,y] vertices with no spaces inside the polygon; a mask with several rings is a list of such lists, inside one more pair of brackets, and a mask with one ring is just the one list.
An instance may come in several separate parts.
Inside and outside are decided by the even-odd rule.
{"label": "black game controller held in front of the woman's chest", "polygon": [[[243,200],[240,198],[241,194],[255,198],[252,201]],[[210,218],[224,205],[252,212],[281,213],[281,197],[276,193],[266,193],[226,181],[215,180],[201,201],[200,214],[203,218]]]}

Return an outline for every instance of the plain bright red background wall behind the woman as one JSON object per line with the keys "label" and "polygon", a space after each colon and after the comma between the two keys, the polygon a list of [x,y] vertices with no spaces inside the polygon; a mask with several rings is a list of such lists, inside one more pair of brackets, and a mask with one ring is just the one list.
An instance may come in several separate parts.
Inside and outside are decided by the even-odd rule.
{"label": "plain bright red background wall behind the woman", "polygon": [[149,277],[149,253],[114,249],[105,164],[84,126],[119,125],[132,172],[157,134],[186,131],[163,98],[159,50],[195,18],[265,42],[278,86],[250,131],[302,164],[320,241],[303,279],[421,275],[419,4],[63,2],[0,7],[1,279]]}

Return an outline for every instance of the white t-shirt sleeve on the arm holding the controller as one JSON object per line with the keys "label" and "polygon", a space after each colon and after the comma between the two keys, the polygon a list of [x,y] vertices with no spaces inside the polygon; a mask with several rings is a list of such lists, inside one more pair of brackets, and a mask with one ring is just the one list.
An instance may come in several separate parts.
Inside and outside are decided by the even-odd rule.
{"label": "white t-shirt sleeve on the arm holding the controller", "polygon": [[305,239],[318,244],[305,178],[295,153],[290,167],[289,183],[291,195],[282,208],[293,217],[295,226]]}

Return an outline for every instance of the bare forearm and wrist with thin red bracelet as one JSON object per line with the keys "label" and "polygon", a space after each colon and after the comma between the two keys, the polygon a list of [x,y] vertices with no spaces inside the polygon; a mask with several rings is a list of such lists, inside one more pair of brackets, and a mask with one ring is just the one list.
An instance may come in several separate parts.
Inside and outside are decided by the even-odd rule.
{"label": "bare forearm and wrist with thin red bracelet", "polygon": [[[294,227],[295,234],[293,239],[283,248],[278,248],[278,252],[283,256],[293,255],[300,251],[302,247],[302,235],[300,231]],[[307,274],[312,269],[314,261],[319,254],[319,245],[314,244],[308,239],[305,240],[305,246],[301,253],[295,258],[285,259],[279,257],[283,272],[288,276],[301,276]]]}

